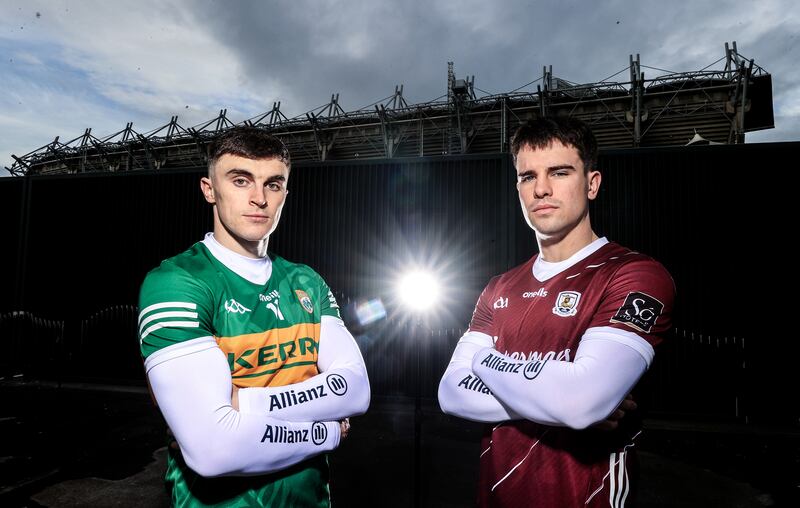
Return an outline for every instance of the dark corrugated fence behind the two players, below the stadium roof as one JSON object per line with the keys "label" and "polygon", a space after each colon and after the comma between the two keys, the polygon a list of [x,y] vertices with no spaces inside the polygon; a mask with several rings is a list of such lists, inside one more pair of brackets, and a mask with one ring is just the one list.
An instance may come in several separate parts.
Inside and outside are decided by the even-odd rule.
{"label": "dark corrugated fence behind the two players, below the stadium roof", "polygon": [[[606,152],[595,230],[660,260],[678,288],[675,330],[649,374],[668,415],[787,421],[771,403],[766,335],[740,296],[741,183],[800,143]],[[202,170],[0,179],[0,375],[143,381],[135,332],[145,273],[211,228]],[[353,326],[375,395],[435,397],[489,278],[535,252],[507,155],[298,164],[271,250],[311,265],[341,303],[380,298],[389,318]],[[445,280],[425,321],[393,281],[426,265]],[[349,323],[353,324],[353,323]],[[748,348],[745,349],[745,337]]]}

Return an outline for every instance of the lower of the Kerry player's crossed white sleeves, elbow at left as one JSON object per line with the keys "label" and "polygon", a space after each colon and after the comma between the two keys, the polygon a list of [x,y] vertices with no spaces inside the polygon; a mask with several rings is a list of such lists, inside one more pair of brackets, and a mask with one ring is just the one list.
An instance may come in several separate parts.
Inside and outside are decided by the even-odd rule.
{"label": "lower of the Kerry player's crossed white sleeves, elbow at left", "polygon": [[186,464],[201,476],[270,473],[339,444],[337,422],[290,423],[235,411],[230,368],[211,337],[164,348],[147,360],[159,409]]}

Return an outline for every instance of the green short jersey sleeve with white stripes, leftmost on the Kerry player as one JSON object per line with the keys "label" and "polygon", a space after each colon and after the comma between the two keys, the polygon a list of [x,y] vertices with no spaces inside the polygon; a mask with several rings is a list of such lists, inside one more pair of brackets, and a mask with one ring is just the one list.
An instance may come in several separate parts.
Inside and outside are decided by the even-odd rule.
{"label": "green short jersey sleeve with white stripes, leftmost on the Kerry player", "polygon": [[213,336],[213,297],[186,271],[163,263],[139,291],[138,335],[142,357],[167,346]]}

